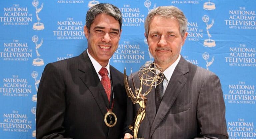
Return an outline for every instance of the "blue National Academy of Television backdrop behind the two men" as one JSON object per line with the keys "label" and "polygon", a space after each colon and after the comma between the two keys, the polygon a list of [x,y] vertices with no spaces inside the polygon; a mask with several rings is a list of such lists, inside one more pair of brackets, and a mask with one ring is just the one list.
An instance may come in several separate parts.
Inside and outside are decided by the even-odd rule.
{"label": "blue National Academy of Television backdrop behind the two men", "polygon": [[164,5],[180,8],[189,33],[181,54],[220,77],[229,138],[256,139],[254,0],[1,0],[1,139],[35,138],[42,71],[87,48],[86,12],[98,3],[111,3],[122,12],[123,31],[110,60],[121,72],[153,61],[144,37],[148,12]]}

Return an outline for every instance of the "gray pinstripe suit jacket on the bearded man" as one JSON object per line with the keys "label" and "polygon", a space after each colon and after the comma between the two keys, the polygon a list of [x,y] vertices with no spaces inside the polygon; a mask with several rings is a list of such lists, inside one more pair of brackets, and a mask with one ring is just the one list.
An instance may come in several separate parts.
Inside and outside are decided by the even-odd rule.
{"label": "gray pinstripe suit jacket on the bearded man", "polygon": [[[136,87],[138,72],[133,74]],[[131,76],[128,78],[132,86]],[[133,87],[131,87],[133,88]],[[142,92],[148,89],[143,85]],[[134,90],[133,90],[134,91]],[[146,96],[146,116],[138,137],[144,139],[227,139],[225,104],[219,78],[181,57],[156,113],[155,89]],[[132,103],[128,103],[131,108]],[[138,105],[133,106],[134,117]],[[130,119],[130,122],[133,119]]]}

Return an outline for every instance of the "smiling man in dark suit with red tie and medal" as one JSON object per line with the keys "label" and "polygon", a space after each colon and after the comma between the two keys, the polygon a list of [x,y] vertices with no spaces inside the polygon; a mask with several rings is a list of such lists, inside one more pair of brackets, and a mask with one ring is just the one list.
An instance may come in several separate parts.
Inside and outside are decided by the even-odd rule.
{"label": "smiling man in dark suit with red tie and medal", "polygon": [[127,99],[123,74],[109,65],[121,26],[116,6],[93,6],[84,27],[88,49],[45,67],[38,89],[37,139],[123,137]]}

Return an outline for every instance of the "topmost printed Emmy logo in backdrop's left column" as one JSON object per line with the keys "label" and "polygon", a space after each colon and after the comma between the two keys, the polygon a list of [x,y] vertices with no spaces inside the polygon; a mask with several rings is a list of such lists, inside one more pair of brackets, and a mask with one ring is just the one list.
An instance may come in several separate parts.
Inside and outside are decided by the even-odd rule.
{"label": "topmost printed Emmy logo in backdrop's left column", "polygon": [[36,8],[36,19],[37,19],[37,23],[33,24],[33,30],[43,30],[44,24],[39,22],[41,19],[38,17],[38,13],[43,9],[44,3],[41,4],[40,8],[37,8],[37,6],[39,5],[39,2],[38,0],[33,0],[32,5]]}

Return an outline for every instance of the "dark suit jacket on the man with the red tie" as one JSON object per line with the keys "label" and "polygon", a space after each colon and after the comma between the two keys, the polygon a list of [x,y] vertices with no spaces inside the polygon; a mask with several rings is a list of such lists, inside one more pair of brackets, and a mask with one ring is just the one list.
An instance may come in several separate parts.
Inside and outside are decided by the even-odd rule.
{"label": "dark suit jacket on the man with the red tie", "polygon": [[86,53],[48,64],[38,88],[36,138],[119,139],[126,115],[123,74],[110,66],[117,124],[107,127],[107,95]]}

